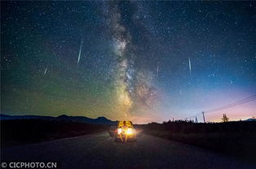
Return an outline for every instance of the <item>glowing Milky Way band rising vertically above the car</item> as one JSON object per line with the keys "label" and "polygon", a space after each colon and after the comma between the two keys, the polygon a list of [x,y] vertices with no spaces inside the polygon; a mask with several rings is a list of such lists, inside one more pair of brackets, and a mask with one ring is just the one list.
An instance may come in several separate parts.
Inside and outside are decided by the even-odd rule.
{"label": "glowing Milky Way band rising vertically above the car", "polygon": [[[153,113],[151,106],[155,103],[153,98],[156,93],[151,83],[150,72],[149,70],[148,72],[142,71],[135,66],[135,62],[140,56],[136,51],[137,46],[133,44],[134,35],[126,28],[126,25],[121,23],[124,14],[121,13],[118,3],[107,3],[107,23],[113,38],[114,57],[117,59],[115,77],[117,109],[120,106],[121,113],[128,119],[137,118],[139,111]],[[130,5],[135,6],[135,4]],[[131,12],[130,17],[133,22],[135,12]]]}

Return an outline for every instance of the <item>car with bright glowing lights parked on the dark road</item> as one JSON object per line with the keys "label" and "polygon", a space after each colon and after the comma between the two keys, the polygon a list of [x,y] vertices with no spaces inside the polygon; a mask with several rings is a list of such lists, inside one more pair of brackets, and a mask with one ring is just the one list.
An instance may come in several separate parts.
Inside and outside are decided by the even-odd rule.
{"label": "car with bright glowing lights parked on the dark road", "polygon": [[114,132],[115,141],[136,141],[136,131],[131,121],[118,121]]}

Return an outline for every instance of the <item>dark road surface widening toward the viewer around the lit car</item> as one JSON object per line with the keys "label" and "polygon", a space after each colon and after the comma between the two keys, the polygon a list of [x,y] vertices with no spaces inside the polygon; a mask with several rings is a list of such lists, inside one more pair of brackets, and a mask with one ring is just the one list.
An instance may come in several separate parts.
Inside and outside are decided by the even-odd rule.
{"label": "dark road surface widening toward the viewer around the lit car", "polygon": [[[58,162],[61,168],[256,168],[235,158],[143,134],[117,143],[108,132],[3,148],[1,161]],[[58,164],[58,165],[59,165]]]}

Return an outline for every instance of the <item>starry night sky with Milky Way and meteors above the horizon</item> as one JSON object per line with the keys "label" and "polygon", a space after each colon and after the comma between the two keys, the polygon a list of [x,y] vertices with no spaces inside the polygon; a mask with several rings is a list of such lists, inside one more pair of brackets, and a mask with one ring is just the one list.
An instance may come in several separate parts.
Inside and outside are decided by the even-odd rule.
{"label": "starry night sky with Milky Way and meteors above the horizon", "polygon": [[256,2],[1,3],[3,114],[201,121],[256,93]]}

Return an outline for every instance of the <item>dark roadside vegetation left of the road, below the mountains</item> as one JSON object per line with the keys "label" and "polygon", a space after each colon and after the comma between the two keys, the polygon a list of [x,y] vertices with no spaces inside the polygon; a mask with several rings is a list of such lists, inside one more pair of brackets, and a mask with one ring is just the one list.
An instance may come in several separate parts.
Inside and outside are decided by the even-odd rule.
{"label": "dark roadside vegetation left of the road, below the mountains", "polygon": [[77,137],[108,129],[108,125],[44,119],[1,121],[1,147]]}

